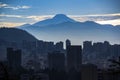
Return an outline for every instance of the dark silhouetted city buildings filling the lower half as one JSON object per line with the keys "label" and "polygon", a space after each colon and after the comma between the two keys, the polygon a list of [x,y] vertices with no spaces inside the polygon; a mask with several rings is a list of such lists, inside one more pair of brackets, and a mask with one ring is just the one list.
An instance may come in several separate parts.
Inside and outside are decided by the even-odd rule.
{"label": "dark silhouetted city buildings filling the lower half", "polygon": [[120,79],[120,44],[84,41],[72,45],[67,39],[65,49],[62,41],[23,41],[21,45],[0,41],[3,46],[6,60],[0,62],[0,80]]}

